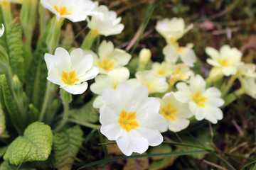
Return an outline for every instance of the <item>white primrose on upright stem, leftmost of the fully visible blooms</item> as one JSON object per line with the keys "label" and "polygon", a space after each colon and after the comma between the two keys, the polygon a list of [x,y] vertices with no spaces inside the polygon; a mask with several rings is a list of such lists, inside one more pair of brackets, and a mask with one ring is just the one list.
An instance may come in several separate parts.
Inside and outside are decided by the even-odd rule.
{"label": "white primrose on upright stem, leftmost of the fully visible blooms", "polygon": [[46,53],[44,58],[48,69],[47,79],[70,94],[85,92],[88,86],[86,81],[99,73],[97,67],[92,67],[92,56],[84,55],[80,48],[69,55],[67,50],[58,47],[54,55]]}

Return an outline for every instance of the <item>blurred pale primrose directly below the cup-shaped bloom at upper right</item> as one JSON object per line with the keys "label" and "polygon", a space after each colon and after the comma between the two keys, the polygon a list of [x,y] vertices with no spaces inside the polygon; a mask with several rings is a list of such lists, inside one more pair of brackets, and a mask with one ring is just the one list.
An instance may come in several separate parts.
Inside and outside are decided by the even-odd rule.
{"label": "blurred pale primrose directly below the cup-shaped bloom at upper right", "polygon": [[167,62],[176,63],[178,57],[181,57],[182,62],[193,67],[193,63],[196,62],[196,54],[192,50],[193,44],[189,43],[186,47],[179,47],[178,42],[170,43],[163,49],[164,59]]}

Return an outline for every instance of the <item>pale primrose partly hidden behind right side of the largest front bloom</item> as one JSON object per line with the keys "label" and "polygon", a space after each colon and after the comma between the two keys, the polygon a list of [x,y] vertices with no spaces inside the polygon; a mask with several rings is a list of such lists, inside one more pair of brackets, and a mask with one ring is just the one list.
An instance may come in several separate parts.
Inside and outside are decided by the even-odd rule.
{"label": "pale primrose partly hidden behind right side of the largest front bloom", "polygon": [[169,130],[179,132],[189,125],[188,118],[193,113],[188,108],[188,103],[181,103],[176,100],[174,93],[164,95],[160,102],[160,114],[166,118]]}

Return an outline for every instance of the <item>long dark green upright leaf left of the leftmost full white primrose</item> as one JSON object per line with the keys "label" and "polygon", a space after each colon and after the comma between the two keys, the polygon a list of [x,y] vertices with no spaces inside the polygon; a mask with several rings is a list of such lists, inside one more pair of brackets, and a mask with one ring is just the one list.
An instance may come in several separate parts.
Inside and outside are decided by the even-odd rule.
{"label": "long dark green upright leaf left of the leftmost full white primrose", "polygon": [[43,98],[46,94],[48,69],[46,67],[44,55],[48,52],[48,47],[46,45],[47,35],[48,29],[38,42],[36,51],[33,54],[31,67],[28,69],[28,74],[26,74],[26,94],[28,95],[28,98],[31,98],[33,106],[38,108],[38,110],[41,110]]}

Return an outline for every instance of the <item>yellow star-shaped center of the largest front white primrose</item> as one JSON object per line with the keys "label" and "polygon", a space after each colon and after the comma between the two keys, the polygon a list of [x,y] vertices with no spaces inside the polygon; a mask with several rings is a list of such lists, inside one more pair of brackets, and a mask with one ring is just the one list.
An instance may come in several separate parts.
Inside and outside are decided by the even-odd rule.
{"label": "yellow star-shaped center of the largest front white primrose", "polygon": [[139,124],[137,123],[137,121],[134,120],[135,118],[136,118],[136,112],[127,113],[127,111],[122,110],[122,112],[120,113],[118,123],[124,130],[129,132],[132,129],[139,127]]}

